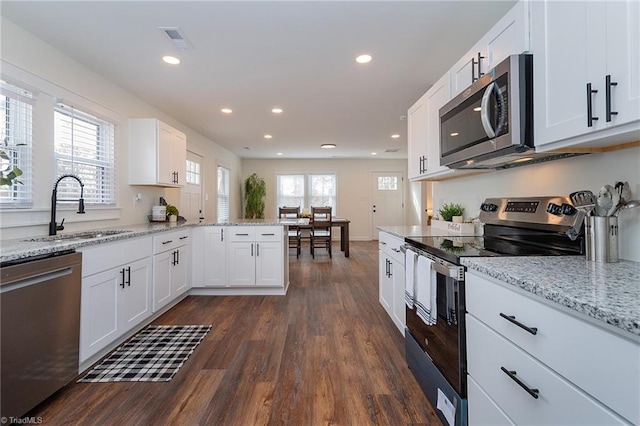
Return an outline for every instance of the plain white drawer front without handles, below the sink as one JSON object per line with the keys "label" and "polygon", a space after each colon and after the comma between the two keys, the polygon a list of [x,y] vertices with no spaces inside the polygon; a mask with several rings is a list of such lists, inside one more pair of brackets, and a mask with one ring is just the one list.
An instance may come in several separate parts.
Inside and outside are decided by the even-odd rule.
{"label": "plain white drawer front without handles, below the sink", "polygon": [[82,252],[82,276],[88,277],[151,256],[151,237],[100,244],[79,251]]}

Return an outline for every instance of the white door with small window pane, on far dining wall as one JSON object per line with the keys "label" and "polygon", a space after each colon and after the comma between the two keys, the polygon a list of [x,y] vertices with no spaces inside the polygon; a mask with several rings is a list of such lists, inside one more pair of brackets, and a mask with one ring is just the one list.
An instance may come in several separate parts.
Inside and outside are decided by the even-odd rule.
{"label": "white door with small window pane, on far dining wall", "polygon": [[404,178],[402,172],[371,174],[371,235],[378,238],[378,226],[404,225]]}

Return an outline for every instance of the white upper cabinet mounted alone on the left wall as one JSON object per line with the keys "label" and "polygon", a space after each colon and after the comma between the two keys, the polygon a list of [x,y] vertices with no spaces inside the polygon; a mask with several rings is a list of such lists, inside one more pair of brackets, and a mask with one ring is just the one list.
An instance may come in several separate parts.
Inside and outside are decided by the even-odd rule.
{"label": "white upper cabinet mounted alone on the left wall", "polygon": [[129,120],[129,183],[181,187],[185,184],[187,138],[155,118]]}

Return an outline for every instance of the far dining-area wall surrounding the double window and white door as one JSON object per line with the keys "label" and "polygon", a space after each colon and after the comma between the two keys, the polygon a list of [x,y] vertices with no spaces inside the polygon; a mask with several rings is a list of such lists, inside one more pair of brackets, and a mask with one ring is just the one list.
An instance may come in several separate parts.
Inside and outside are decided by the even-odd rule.
{"label": "far dining-area wall surrounding the double window and white door", "polygon": [[[402,172],[404,179],[405,223],[415,225],[417,213],[409,208],[406,160],[325,159],[325,160],[243,160],[242,179],[257,173],[267,184],[265,216],[277,216],[276,175],[279,173],[336,173],[338,179],[337,215],[351,220],[351,240],[370,240],[371,173]],[[395,224],[389,224],[395,225]],[[403,225],[401,223],[397,225]],[[375,236],[377,238],[377,235]]]}

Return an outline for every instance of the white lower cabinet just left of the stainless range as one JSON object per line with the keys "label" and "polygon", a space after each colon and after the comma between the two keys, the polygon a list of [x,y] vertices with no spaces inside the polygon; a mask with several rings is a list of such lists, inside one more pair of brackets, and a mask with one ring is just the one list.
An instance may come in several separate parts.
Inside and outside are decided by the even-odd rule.
{"label": "white lower cabinet just left of the stainless range", "polygon": [[378,289],[380,304],[404,336],[406,308],[404,303],[405,271],[402,238],[380,232],[378,245]]}

